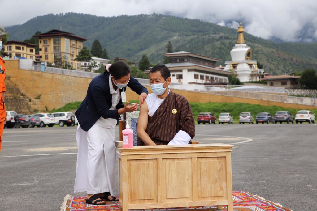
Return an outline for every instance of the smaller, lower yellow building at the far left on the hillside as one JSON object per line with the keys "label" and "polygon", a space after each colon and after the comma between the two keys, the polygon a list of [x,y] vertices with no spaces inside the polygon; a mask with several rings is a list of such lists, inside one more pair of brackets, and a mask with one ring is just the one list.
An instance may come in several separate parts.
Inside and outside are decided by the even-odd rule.
{"label": "smaller, lower yellow building at the far left on the hillside", "polygon": [[35,47],[37,45],[20,42],[20,41],[8,41],[3,45],[4,52],[9,56],[9,59],[22,58],[22,59],[32,59],[35,61]]}

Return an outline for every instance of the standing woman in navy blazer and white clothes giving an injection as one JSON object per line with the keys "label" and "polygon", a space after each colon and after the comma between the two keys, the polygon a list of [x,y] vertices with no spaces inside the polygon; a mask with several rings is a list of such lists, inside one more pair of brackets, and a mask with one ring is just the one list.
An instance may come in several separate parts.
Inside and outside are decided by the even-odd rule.
{"label": "standing woman in navy blazer and white clothes giving an injection", "polygon": [[137,103],[124,105],[121,93],[126,91],[126,86],[130,87],[139,94],[140,105],[148,94],[147,89],[130,76],[125,62],[115,62],[106,69],[90,82],[87,95],[75,112],[78,154],[74,192],[87,191],[86,202],[96,205],[118,201],[112,197],[115,126],[121,114],[137,109]]}

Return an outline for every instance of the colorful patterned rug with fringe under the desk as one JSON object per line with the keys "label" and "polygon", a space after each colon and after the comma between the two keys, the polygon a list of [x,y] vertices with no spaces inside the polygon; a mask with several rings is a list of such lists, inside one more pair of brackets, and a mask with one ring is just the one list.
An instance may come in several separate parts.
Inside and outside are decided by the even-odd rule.
{"label": "colorful patterned rug with fringe under the desk", "polygon": [[[234,211],[292,211],[282,205],[267,201],[257,195],[252,195],[246,191],[233,191],[233,210]],[[86,204],[86,197],[73,197],[66,195],[61,204],[61,211],[119,211],[117,202],[107,202],[106,205]],[[175,210],[194,210],[194,211],[215,211],[217,207],[183,207],[183,208],[163,208],[163,209],[143,209],[134,211],[175,211]],[[222,211],[227,211],[223,206]]]}

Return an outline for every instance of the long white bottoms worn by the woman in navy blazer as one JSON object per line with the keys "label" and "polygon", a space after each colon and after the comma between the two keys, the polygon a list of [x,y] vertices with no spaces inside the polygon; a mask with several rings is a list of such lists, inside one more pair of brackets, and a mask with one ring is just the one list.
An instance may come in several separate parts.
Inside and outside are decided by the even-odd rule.
{"label": "long white bottoms worn by the woman in navy blazer", "polygon": [[115,127],[94,124],[87,132],[78,124],[78,154],[74,193],[110,192],[113,195],[115,176]]}

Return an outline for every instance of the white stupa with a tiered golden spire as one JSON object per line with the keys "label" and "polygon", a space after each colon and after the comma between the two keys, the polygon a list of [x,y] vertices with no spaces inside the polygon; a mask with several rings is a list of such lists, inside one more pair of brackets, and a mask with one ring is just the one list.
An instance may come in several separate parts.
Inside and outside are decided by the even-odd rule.
{"label": "white stupa with a tiered golden spire", "polygon": [[239,33],[238,41],[230,51],[232,60],[225,61],[224,70],[233,71],[241,82],[259,81],[264,75],[264,70],[258,69],[256,60],[251,60],[252,50],[244,42],[244,28],[241,22],[237,32]]}

